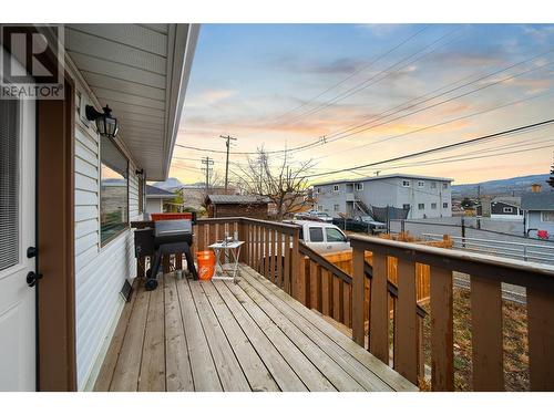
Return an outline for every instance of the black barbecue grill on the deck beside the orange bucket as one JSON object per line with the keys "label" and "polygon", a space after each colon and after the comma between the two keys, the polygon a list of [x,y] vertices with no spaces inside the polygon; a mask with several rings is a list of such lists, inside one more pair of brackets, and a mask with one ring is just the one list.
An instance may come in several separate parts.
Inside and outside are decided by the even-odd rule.
{"label": "black barbecue grill on the deck beside the orange bucket", "polygon": [[151,256],[151,268],[146,271],[146,291],[157,287],[156,276],[162,256],[184,253],[188,271],[198,279],[191,247],[193,245],[193,220],[157,220],[154,228],[135,230],[135,257]]}

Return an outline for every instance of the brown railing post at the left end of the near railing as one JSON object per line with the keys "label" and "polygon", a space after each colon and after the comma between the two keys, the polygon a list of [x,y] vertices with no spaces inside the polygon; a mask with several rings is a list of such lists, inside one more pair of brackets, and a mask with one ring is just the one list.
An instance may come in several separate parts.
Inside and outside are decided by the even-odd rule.
{"label": "brown railing post at the left end of the near railing", "polygon": [[352,340],[363,347],[366,341],[365,324],[365,249],[353,245],[352,250]]}

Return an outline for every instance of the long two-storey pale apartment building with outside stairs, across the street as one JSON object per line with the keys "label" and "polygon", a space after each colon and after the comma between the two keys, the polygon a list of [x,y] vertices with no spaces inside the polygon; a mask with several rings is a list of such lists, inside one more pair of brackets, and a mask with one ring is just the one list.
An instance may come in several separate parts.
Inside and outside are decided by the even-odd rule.
{"label": "long two-storey pale apartment building with outside stairs, across the street", "polygon": [[318,210],[334,217],[370,215],[371,207],[409,209],[409,219],[452,216],[451,181],[444,177],[384,175],[314,185]]}

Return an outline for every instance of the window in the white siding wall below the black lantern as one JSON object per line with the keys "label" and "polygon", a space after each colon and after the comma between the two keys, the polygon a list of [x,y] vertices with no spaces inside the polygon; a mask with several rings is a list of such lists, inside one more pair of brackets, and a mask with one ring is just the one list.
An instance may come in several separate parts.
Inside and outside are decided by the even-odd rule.
{"label": "window in the white siding wall below the black lantern", "polygon": [[127,228],[129,163],[107,137],[100,142],[100,240],[102,246]]}

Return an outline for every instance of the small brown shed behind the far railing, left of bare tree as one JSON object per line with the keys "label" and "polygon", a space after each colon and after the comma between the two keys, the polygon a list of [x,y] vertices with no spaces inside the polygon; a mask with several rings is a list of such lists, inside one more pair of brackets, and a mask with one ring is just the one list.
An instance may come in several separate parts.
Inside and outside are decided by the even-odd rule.
{"label": "small brown shed behind the far railing, left of bare tree", "polygon": [[208,195],[206,207],[208,217],[226,218],[244,216],[267,219],[269,199],[245,195]]}

